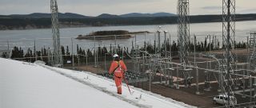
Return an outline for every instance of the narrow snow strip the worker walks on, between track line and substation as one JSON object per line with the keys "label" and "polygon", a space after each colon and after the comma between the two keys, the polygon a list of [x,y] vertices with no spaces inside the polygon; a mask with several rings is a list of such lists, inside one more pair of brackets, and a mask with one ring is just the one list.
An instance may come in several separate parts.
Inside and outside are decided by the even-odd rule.
{"label": "narrow snow strip the worker walks on, between track line and substation", "polygon": [[130,102],[135,106],[154,108],[194,107],[186,105],[183,102],[178,102],[171,98],[165,98],[161,95],[156,95],[149,91],[144,91],[133,86],[130,86],[131,92],[133,92],[133,94],[130,95],[130,92],[126,87],[125,83],[123,83],[122,85],[122,95],[117,95],[117,90],[112,79],[107,79],[105,77],[95,75],[87,71],[70,71],[67,69],[52,68],[49,66],[43,67],[50,68],[52,71],[58,71],[58,73],[62,75],[66,75],[67,77],[72,77],[73,79],[78,80],[78,82],[90,83],[91,85],[93,85],[93,87],[99,88],[100,91],[107,91],[107,94],[114,95],[115,97],[118,97],[126,102]]}

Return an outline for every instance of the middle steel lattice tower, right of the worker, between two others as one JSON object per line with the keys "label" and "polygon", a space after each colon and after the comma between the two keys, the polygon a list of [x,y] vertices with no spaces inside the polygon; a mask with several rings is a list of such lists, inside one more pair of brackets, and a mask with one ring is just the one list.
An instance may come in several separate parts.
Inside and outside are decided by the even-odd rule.
{"label": "middle steel lattice tower, right of the worker, between two others", "polygon": [[[189,65],[188,55],[190,52],[190,2],[189,0],[178,0],[177,14],[178,14],[178,48],[179,48],[179,58],[181,64],[184,66],[182,72],[184,74],[184,79],[190,78],[190,68],[186,66]],[[185,85],[187,86],[187,80],[185,80]]]}

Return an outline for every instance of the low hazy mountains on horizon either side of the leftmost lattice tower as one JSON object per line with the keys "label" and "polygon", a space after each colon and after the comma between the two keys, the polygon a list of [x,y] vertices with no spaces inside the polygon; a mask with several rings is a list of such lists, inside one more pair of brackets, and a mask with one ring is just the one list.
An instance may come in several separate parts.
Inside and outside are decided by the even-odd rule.
{"label": "low hazy mountains on horizon either side of the leftmost lattice tower", "polygon": [[[11,14],[10,17],[17,18],[49,18],[51,13],[30,13],[30,14]],[[78,13],[58,13],[59,18],[89,18]]]}

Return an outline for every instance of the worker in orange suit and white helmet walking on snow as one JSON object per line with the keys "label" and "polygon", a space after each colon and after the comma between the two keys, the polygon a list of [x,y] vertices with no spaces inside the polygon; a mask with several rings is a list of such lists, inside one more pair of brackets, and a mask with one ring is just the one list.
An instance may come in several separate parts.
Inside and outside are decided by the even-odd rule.
{"label": "worker in orange suit and white helmet walking on snow", "polygon": [[124,72],[126,72],[126,64],[120,60],[118,54],[114,54],[114,60],[110,66],[110,74],[114,73],[114,82],[118,88],[118,94],[122,95],[122,79],[124,77]]}

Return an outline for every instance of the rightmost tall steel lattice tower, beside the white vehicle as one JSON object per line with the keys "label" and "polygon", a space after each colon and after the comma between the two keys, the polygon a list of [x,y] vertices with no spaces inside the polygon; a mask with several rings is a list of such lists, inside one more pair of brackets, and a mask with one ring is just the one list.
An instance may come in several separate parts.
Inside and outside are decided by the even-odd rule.
{"label": "rightmost tall steel lattice tower, beside the white vehicle", "polygon": [[222,0],[222,44],[223,44],[223,61],[222,61],[222,92],[228,98],[227,107],[234,107],[234,96],[232,88],[234,81],[231,74],[234,74],[234,36],[235,36],[235,0]]}

